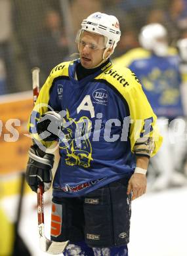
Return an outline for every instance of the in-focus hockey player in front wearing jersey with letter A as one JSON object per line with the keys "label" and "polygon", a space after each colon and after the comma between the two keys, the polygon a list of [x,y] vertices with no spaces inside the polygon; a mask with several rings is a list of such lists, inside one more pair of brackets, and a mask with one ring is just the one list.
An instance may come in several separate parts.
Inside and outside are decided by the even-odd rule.
{"label": "in-focus hockey player in front wearing jersey with letter A", "polygon": [[51,239],[70,240],[64,255],[128,255],[131,199],[146,192],[148,161],[161,145],[138,79],[110,60],[120,33],[115,16],[83,20],[80,58],[52,70],[31,113],[33,191],[51,186],[53,157],[42,149],[59,143]]}

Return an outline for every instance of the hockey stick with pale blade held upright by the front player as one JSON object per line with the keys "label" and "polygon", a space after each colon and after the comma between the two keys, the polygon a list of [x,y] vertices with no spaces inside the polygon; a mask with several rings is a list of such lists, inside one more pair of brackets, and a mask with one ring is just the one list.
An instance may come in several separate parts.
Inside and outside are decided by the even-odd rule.
{"label": "hockey stick with pale blade held upright by the front player", "polygon": [[[37,96],[39,95],[39,68],[33,68],[32,83],[33,83],[33,103],[35,104]],[[37,188],[37,219],[38,219],[38,231],[39,231],[39,247],[42,251],[51,254],[63,253],[66,242],[54,242],[45,237],[44,230],[44,206],[43,206],[43,186],[39,185]]]}

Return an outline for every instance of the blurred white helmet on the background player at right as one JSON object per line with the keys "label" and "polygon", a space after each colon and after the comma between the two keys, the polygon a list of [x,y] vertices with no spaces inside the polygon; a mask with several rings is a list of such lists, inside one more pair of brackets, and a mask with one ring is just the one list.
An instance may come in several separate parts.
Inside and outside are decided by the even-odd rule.
{"label": "blurred white helmet on the background player at right", "polygon": [[159,23],[144,26],[139,34],[140,45],[149,51],[154,51],[158,56],[165,56],[168,51],[167,40],[160,42],[158,39],[167,38],[167,30]]}

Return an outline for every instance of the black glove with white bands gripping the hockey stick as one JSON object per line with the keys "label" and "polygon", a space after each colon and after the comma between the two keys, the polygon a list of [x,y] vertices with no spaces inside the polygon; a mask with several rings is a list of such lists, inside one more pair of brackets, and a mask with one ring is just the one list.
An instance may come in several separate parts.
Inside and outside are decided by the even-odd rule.
{"label": "black glove with white bands gripping the hockey stick", "polygon": [[39,152],[37,145],[33,145],[29,150],[29,160],[26,169],[26,181],[31,190],[37,192],[39,184],[43,184],[44,191],[49,190],[52,182],[52,166],[54,155]]}

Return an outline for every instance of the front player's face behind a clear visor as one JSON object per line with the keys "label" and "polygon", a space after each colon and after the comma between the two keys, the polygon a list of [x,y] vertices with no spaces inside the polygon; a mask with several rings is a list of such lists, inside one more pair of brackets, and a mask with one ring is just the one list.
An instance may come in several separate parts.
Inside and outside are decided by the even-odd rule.
{"label": "front player's face behind a clear visor", "polygon": [[104,36],[83,32],[79,39],[78,49],[81,64],[84,68],[94,68],[102,62],[105,50]]}

